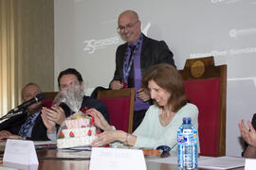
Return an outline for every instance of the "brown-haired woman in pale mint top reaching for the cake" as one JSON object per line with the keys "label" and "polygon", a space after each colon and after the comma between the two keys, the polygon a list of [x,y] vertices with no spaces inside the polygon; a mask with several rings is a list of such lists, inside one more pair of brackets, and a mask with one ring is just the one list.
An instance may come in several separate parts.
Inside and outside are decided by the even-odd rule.
{"label": "brown-haired woman in pale mint top reaching for the cake", "polygon": [[[95,117],[96,126],[104,130],[92,146],[101,146],[116,141],[137,147],[155,148],[168,145],[176,151],[177,129],[183,117],[191,117],[192,125],[198,127],[197,107],[188,103],[182,77],[174,66],[161,63],[150,68],[142,78],[143,88],[154,100],[145,118],[132,135],[113,129],[97,110],[88,110]],[[199,146],[199,144],[198,144]]]}

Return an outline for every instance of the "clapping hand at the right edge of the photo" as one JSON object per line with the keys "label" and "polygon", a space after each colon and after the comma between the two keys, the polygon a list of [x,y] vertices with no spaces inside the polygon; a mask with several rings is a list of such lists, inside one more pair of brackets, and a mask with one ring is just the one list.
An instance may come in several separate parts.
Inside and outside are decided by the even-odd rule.
{"label": "clapping hand at the right edge of the photo", "polygon": [[249,121],[247,122],[247,125],[249,130],[245,127],[245,121],[242,119],[241,123],[238,124],[238,127],[247,144],[256,147],[256,131]]}

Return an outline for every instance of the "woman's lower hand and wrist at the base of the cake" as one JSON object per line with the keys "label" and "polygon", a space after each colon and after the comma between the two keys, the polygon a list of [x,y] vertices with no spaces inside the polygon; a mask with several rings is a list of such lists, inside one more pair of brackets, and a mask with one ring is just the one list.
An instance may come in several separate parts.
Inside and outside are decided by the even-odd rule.
{"label": "woman's lower hand and wrist at the base of the cake", "polygon": [[112,129],[112,130],[104,131],[103,133],[97,135],[97,137],[98,138],[96,140],[94,140],[91,144],[93,147],[110,144],[115,141],[124,142],[126,133],[121,130],[113,130]]}

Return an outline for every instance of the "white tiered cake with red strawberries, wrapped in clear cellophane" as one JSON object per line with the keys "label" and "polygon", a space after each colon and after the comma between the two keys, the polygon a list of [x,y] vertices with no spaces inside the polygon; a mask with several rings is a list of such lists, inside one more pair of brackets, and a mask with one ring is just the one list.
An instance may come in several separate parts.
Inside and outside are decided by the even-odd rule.
{"label": "white tiered cake with red strawberries, wrapped in clear cellophane", "polygon": [[58,148],[90,145],[100,133],[94,126],[94,118],[79,111],[69,116],[60,127],[57,137]]}

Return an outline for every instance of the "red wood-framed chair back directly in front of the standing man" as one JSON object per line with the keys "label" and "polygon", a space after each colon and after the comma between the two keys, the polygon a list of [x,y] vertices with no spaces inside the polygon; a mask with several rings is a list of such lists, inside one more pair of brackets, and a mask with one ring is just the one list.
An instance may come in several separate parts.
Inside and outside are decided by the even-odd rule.
{"label": "red wood-framed chair back directly in front of the standing man", "polygon": [[99,91],[97,99],[106,104],[110,125],[119,130],[133,132],[135,88]]}

